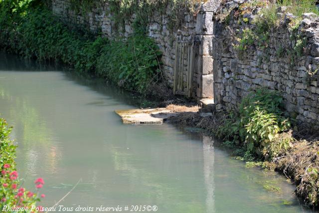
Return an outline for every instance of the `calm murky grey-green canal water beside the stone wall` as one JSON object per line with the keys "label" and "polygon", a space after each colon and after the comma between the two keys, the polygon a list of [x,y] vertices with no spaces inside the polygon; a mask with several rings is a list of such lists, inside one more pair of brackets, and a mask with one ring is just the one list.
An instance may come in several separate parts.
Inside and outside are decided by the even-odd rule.
{"label": "calm murky grey-green canal water beside the stone wall", "polygon": [[34,189],[38,177],[45,181],[42,206],[53,206],[81,180],[59,205],[309,212],[283,176],[245,168],[207,137],[169,124],[122,124],[114,110],[134,108],[134,101],[103,81],[1,55],[1,117],[14,127],[23,186]]}

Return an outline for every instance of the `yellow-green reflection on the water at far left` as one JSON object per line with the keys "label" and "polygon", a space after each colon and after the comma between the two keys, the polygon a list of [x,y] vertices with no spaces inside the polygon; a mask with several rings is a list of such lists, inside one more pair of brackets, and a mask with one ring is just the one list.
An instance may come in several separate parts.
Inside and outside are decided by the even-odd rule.
{"label": "yellow-green reflection on the water at far left", "polygon": [[[0,63],[1,64],[1,63]],[[19,82],[20,88],[26,88],[32,84],[28,76],[23,77],[21,81],[17,79],[0,79],[0,94],[2,110],[8,107],[9,124],[14,126],[11,137],[15,139],[17,145],[21,148],[26,148],[26,152],[21,157],[24,158],[24,165],[26,168],[27,176],[36,176],[36,169],[42,165],[49,165],[51,174],[56,172],[56,164],[58,157],[61,154],[59,146],[54,145],[54,137],[52,132],[51,122],[43,119],[41,112],[38,108],[34,107],[32,95],[23,93],[23,95],[17,95],[20,93],[20,89],[15,87],[11,90],[7,90],[7,84],[15,84]],[[18,122],[15,122],[18,121]],[[46,156],[41,153],[49,153]],[[57,154],[60,153],[60,154]]]}

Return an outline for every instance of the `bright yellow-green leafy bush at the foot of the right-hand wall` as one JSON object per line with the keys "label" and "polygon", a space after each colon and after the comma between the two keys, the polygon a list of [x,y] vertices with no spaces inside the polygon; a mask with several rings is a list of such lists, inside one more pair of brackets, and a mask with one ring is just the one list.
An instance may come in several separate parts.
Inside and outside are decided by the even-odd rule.
{"label": "bright yellow-green leafy bush at the foot of the right-hand wall", "polygon": [[225,140],[244,145],[248,151],[259,157],[271,150],[276,135],[290,127],[288,119],[282,116],[282,97],[267,89],[258,89],[242,99],[239,111],[218,129],[218,135]]}

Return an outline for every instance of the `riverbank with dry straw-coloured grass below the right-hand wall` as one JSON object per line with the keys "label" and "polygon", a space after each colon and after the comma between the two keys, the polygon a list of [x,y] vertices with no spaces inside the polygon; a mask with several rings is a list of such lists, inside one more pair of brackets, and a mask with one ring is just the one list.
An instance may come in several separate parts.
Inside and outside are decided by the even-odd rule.
{"label": "riverbank with dry straw-coloured grass below the right-hand wall", "polygon": [[[225,125],[229,118],[226,112],[213,112],[202,116],[200,112],[185,112],[167,119],[167,123],[179,124],[184,127],[200,128],[207,136],[218,139],[218,129]],[[286,145],[283,142],[288,142]],[[247,153],[246,145],[225,141],[224,146],[233,150],[233,155],[246,161],[247,167],[261,166],[264,169],[275,170],[296,184],[296,195],[309,206],[318,205],[318,153],[319,136],[307,129],[299,131],[289,129],[275,136],[277,153],[271,158],[256,158]]]}

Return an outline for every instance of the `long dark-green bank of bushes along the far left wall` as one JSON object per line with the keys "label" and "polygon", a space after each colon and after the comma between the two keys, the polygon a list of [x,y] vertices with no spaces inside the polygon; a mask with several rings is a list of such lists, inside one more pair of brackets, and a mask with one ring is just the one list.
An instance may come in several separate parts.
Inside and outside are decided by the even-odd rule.
{"label": "long dark-green bank of bushes along the far left wall", "polygon": [[140,93],[160,80],[159,48],[138,27],[127,40],[110,41],[87,31],[71,31],[41,4],[29,3],[13,12],[15,1],[21,0],[0,1],[0,46],[6,50],[62,62]]}

